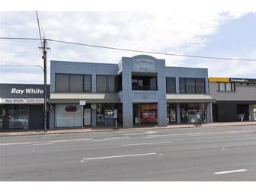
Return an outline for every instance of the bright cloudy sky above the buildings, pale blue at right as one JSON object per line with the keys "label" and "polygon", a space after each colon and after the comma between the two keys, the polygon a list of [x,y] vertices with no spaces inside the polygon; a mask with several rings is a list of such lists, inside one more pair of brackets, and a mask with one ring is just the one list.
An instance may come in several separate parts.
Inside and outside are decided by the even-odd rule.
{"label": "bright cloudy sky above the buildings, pale blue at right", "polygon": [[[137,1],[123,5],[114,2],[111,6],[110,0],[107,5],[96,1],[82,8],[80,4],[73,8],[64,3],[64,8],[55,5],[52,10],[47,6],[37,9],[33,3],[21,8],[15,4],[13,8],[9,1],[6,9],[0,9],[0,37],[39,38],[38,10],[46,39],[158,53],[256,59],[256,6],[246,1],[235,6],[221,1],[160,4],[161,0],[151,6]],[[47,46],[48,83],[50,60],[117,64],[123,56],[144,54],[52,41],[47,41]],[[40,40],[0,39],[0,83],[43,84],[43,71],[38,67],[43,66],[42,51],[38,47]],[[207,68],[209,76],[256,78],[256,61],[147,55],[165,59],[165,66]]]}

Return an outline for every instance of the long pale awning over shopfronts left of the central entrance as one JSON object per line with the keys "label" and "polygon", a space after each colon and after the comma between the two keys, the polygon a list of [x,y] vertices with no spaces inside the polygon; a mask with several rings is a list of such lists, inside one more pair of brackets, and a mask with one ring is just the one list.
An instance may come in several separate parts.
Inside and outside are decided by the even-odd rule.
{"label": "long pale awning over shopfronts left of the central entrance", "polygon": [[51,93],[51,104],[79,103],[85,100],[86,103],[120,103],[117,93]]}

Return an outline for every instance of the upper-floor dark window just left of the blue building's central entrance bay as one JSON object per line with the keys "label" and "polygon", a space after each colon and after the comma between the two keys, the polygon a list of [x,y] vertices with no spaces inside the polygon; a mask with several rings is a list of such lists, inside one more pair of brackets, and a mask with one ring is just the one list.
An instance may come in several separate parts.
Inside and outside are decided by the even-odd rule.
{"label": "upper-floor dark window just left of the blue building's central entrance bay", "polygon": [[117,91],[117,78],[115,75],[97,75],[98,92]]}

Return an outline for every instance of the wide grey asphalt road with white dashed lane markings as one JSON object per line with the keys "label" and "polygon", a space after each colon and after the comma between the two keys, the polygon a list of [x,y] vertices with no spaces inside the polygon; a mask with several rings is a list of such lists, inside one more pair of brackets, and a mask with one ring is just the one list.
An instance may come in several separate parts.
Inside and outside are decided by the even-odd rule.
{"label": "wide grey asphalt road with white dashed lane markings", "polygon": [[1,181],[256,181],[256,126],[0,137]]}

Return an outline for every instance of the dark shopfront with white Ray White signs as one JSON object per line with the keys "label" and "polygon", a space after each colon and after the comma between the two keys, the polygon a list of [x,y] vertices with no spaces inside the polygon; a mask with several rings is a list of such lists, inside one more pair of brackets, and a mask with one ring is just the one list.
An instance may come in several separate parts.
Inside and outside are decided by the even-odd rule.
{"label": "dark shopfront with white Ray White signs", "polygon": [[0,130],[43,129],[43,103],[43,85],[0,84]]}

